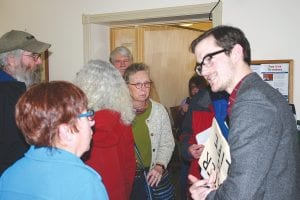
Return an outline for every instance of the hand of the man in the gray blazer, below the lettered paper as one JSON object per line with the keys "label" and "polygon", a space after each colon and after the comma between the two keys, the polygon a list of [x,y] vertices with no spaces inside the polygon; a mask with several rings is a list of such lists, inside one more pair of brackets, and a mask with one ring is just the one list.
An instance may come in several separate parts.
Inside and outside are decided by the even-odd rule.
{"label": "hand of the man in the gray blazer, below the lettered paper", "polygon": [[190,174],[188,178],[192,183],[192,186],[189,189],[192,198],[194,200],[204,200],[211,191],[216,190],[216,176],[216,172],[213,171],[209,179],[199,180]]}

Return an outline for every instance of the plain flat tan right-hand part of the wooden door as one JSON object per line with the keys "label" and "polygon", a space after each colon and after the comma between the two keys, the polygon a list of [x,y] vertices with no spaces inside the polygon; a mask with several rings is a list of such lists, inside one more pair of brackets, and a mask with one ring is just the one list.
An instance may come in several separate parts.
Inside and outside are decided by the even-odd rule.
{"label": "plain flat tan right-hand part of the wooden door", "polygon": [[166,107],[178,105],[188,95],[188,80],[195,66],[189,45],[198,35],[198,31],[179,28],[145,29],[144,61]]}

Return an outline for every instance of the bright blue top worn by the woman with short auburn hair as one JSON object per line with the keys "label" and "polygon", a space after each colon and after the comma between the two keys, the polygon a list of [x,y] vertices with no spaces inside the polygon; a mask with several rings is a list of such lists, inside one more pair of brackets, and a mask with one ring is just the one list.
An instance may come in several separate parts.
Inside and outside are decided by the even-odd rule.
{"label": "bright blue top worn by the woman with short auburn hair", "polygon": [[31,146],[0,178],[0,200],[106,200],[99,174],[76,155]]}

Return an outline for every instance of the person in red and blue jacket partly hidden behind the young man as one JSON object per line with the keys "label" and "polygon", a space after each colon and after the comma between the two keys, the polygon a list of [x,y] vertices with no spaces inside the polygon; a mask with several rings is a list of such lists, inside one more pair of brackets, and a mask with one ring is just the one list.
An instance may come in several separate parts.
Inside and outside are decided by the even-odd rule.
{"label": "person in red and blue jacket partly hidden behind the young man", "polygon": [[[223,118],[220,121],[223,121],[224,124],[226,116],[228,95],[224,92],[214,93],[206,84],[202,86],[198,93],[191,99],[189,109],[182,124],[182,133],[180,136],[181,155],[185,163],[188,164],[185,166],[187,168],[186,176],[183,176],[182,179],[186,178],[187,182],[188,174],[192,174],[199,179],[201,178],[198,160],[204,149],[204,145],[197,143],[196,135],[209,128],[212,125],[214,117],[220,119],[220,116],[222,116]],[[221,106],[222,102],[225,102],[225,109]],[[186,194],[190,195],[188,188],[186,191]]]}

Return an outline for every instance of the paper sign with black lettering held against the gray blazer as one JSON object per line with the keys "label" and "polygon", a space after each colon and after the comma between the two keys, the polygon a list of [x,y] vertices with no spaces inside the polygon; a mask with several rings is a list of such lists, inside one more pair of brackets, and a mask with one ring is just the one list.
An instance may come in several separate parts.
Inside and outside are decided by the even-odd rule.
{"label": "paper sign with black lettering held against the gray blazer", "polygon": [[204,144],[205,147],[198,163],[201,167],[201,175],[205,179],[209,177],[212,170],[218,172],[216,186],[219,187],[227,178],[231,157],[229,145],[215,118],[211,128],[211,134]]}

